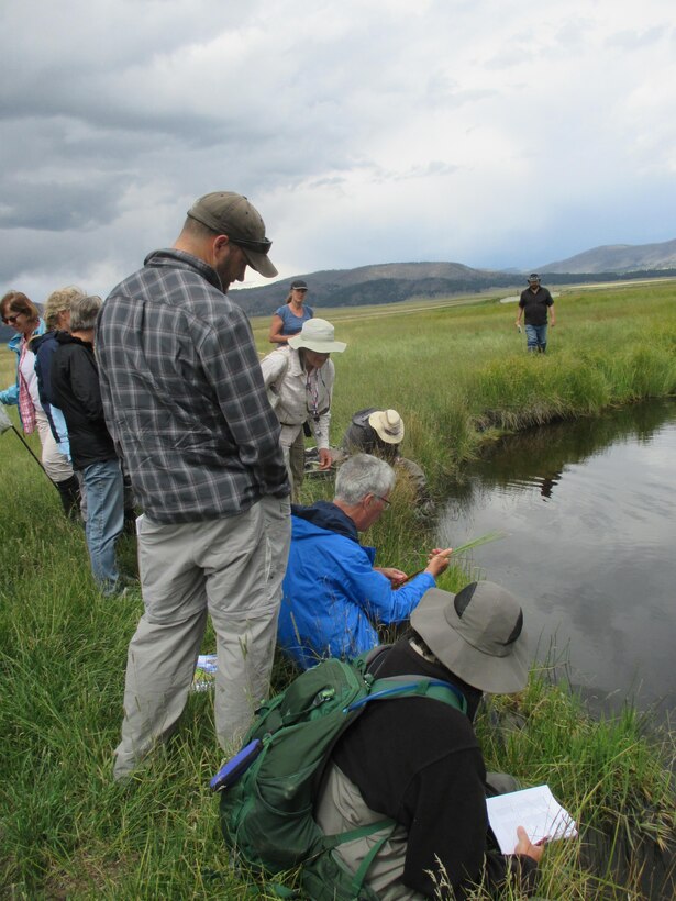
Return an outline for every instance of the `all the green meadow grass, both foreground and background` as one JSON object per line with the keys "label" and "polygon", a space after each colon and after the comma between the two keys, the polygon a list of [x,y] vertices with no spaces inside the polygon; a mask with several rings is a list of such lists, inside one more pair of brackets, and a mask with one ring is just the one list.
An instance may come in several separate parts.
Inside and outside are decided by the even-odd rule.
{"label": "all the green meadow grass, both foreground and background", "polygon": [[[527,355],[516,304],[497,301],[315,307],[348,345],[334,355],[332,443],[354,411],[394,407],[406,422],[403,453],[441,494],[446,477],[506,430],[676,393],[676,282],[564,291],[545,356]],[[262,353],[271,349],[268,325],[253,321]],[[3,348],[1,387],[13,367]],[[10,415],[18,423],[15,408]],[[209,692],[191,696],[170,744],[137,779],[112,782],[140,593],[97,593],[84,533],[63,518],[54,487],[11,432],[0,449],[0,897],[275,897],[229,866],[208,787],[223,763]],[[330,492],[330,481],[308,479],[303,500]],[[367,541],[380,565],[422,565],[425,525],[409,486],[397,487]],[[134,538],[123,537],[120,552],[134,575]],[[466,578],[461,559],[441,587],[456,590]],[[277,687],[289,675],[279,661]],[[520,697],[486,705],[478,732],[488,768],[548,782],[607,861],[591,872],[578,842],[552,844],[541,897],[660,897],[640,870],[674,867],[674,735],[650,725],[630,708],[591,720],[548,667],[533,670]],[[621,865],[614,876],[611,861]]]}

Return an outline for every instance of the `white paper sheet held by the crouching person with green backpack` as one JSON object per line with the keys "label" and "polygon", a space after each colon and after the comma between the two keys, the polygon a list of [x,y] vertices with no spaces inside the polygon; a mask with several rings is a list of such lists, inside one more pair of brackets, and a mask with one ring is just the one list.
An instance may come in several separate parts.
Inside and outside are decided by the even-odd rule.
{"label": "white paper sheet held by the crouching person with green backpack", "polygon": [[486,807],[490,827],[502,854],[513,854],[518,842],[517,826],[523,826],[534,845],[577,835],[575,821],[554,798],[548,786],[487,798]]}

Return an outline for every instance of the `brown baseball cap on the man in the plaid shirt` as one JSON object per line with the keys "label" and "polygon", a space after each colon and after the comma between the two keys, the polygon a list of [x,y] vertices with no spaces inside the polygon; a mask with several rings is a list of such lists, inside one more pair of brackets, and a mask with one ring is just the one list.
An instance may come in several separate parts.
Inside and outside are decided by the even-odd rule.
{"label": "brown baseball cap on the man in the plaid shirt", "polygon": [[211,231],[228,235],[233,244],[242,248],[252,269],[262,276],[274,278],[278,274],[268,257],[273,242],[265,236],[265,222],[243,194],[234,191],[204,194],[190,207],[188,215]]}

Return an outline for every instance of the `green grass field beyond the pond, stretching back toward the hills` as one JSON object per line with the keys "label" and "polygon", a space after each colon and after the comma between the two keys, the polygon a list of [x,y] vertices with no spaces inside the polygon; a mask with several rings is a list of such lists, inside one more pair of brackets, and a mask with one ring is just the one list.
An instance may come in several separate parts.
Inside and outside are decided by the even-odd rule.
{"label": "green grass field beyond the pond, stretching back toward the hills", "polygon": [[[544,356],[525,353],[516,304],[497,299],[426,312],[318,307],[347,342],[333,355],[334,443],[356,410],[394,407],[407,426],[403,454],[439,486],[487,432],[676,392],[676,282],[569,291],[555,303]],[[267,327],[254,320],[261,353],[271,349]]]}

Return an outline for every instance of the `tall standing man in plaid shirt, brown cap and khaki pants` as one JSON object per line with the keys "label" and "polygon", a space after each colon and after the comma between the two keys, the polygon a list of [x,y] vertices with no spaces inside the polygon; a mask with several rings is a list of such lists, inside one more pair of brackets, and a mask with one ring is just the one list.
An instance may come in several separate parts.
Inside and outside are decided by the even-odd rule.
{"label": "tall standing man in plaid shirt, brown cap and khaki pants", "polygon": [[207,613],[228,747],[267,694],[290,540],[290,486],[246,315],[224,297],[271,242],[245,197],[199,198],[175,245],[113,289],[97,330],[108,427],[143,515],[145,612],[128,656],[115,779],[174,730]]}

